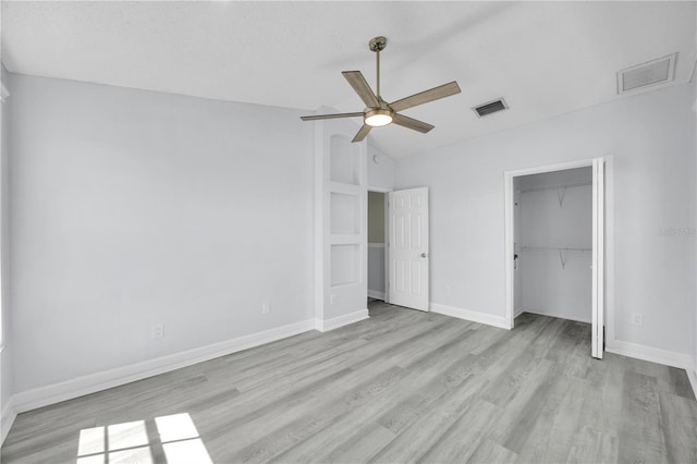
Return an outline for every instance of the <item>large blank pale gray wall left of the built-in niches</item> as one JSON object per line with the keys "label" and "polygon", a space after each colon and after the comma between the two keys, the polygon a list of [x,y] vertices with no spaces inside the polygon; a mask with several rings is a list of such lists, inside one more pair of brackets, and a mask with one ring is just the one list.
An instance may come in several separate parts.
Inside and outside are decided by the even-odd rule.
{"label": "large blank pale gray wall left of the built-in niches", "polygon": [[313,317],[299,112],[11,84],[16,391]]}

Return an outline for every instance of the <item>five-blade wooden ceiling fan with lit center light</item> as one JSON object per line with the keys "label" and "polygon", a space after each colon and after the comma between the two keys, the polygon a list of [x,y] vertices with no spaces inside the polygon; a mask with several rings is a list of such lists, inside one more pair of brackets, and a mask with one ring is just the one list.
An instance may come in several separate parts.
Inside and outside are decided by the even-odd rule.
{"label": "five-blade wooden ceiling fan with lit center light", "polygon": [[412,95],[411,97],[402,98],[401,100],[388,103],[380,96],[380,51],[384,50],[384,47],[387,45],[388,40],[382,36],[374,37],[368,42],[370,50],[376,52],[377,91],[375,94],[372,93],[372,89],[370,89],[370,86],[366,82],[363,74],[360,74],[360,71],[342,72],[346,81],[348,81],[348,84],[353,87],[356,94],[358,94],[358,97],[360,97],[363,102],[366,103],[367,108],[365,110],[355,113],[308,115],[301,117],[301,119],[303,121],[317,121],[321,119],[363,117],[363,126],[351,142],[360,142],[366,137],[366,135],[368,135],[368,132],[370,132],[372,127],[380,127],[390,123],[412,129],[424,134],[433,129],[435,126],[431,124],[405,117],[404,114],[399,114],[398,111],[402,111],[417,105],[428,103],[429,101],[438,100],[440,98],[450,97],[451,95],[460,94],[460,86],[455,81],[453,81],[451,83],[433,87],[429,90],[424,90],[418,94]]}

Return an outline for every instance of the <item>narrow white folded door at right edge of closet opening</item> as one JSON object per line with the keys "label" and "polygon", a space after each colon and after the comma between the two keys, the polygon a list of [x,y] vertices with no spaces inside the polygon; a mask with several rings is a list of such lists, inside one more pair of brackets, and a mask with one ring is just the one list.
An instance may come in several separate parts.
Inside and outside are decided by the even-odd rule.
{"label": "narrow white folded door at right edge of closet opening", "polygon": [[591,355],[604,350],[604,160],[592,160],[592,330]]}

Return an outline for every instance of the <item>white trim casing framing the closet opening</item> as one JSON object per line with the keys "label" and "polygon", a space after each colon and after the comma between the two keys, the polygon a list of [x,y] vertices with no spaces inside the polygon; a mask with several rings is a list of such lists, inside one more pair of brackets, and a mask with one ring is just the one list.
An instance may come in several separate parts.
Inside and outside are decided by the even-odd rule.
{"label": "white trim casing framing the closet opening", "polygon": [[[525,168],[505,171],[503,173],[504,179],[504,271],[505,271],[505,320],[509,325],[509,328],[512,329],[514,326],[514,316],[515,308],[514,306],[514,272],[513,272],[513,252],[514,252],[514,240],[513,240],[513,215],[514,215],[514,186],[513,180],[519,175],[529,175],[529,174],[539,174],[542,172],[551,172],[551,171],[561,171],[565,169],[574,169],[574,168],[584,168],[584,167],[592,167],[594,163],[604,162],[606,171],[604,171],[604,182],[606,182],[606,195],[604,195],[604,247],[602,252],[604,253],[603,262],[604,262],[604,285],[600,289],[600,294],[598,297],[602,298],[602,303],[604,303],[604,318],[606,328],[608,331],[608,339],[614,339],[614,243],[613,243],[613,224],[614,224],[614,210],[613,210],[613,172],[612,172],[612,156],[606,156],[601,158],[591,158],[591,159],[583,159],[570,162],[562,162],[555,164],[547,164],[534,168]],[[594,218],[595,221],[595,218]],[[602,283],[602,282],[601,282]],[[600,305],[602,307],[603,305]],[[594,315],[594,318],[596,315]],[[601,316],[602,318],[602,316]],[[595,319],[594,319],[595,320]],[[602,328],[598,328],[598,330],[602,330]]]}

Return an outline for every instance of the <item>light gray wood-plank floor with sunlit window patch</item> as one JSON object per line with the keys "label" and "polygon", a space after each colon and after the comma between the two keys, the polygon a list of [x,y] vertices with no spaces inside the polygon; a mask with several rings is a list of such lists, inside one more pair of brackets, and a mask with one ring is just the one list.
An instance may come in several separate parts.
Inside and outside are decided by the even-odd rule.
{"label": "light gray wood-plank floor with sunlit window patch", "polygon": [[697,462],[685,371],[588,325],[370,316],[21,414],[2,463]]}

